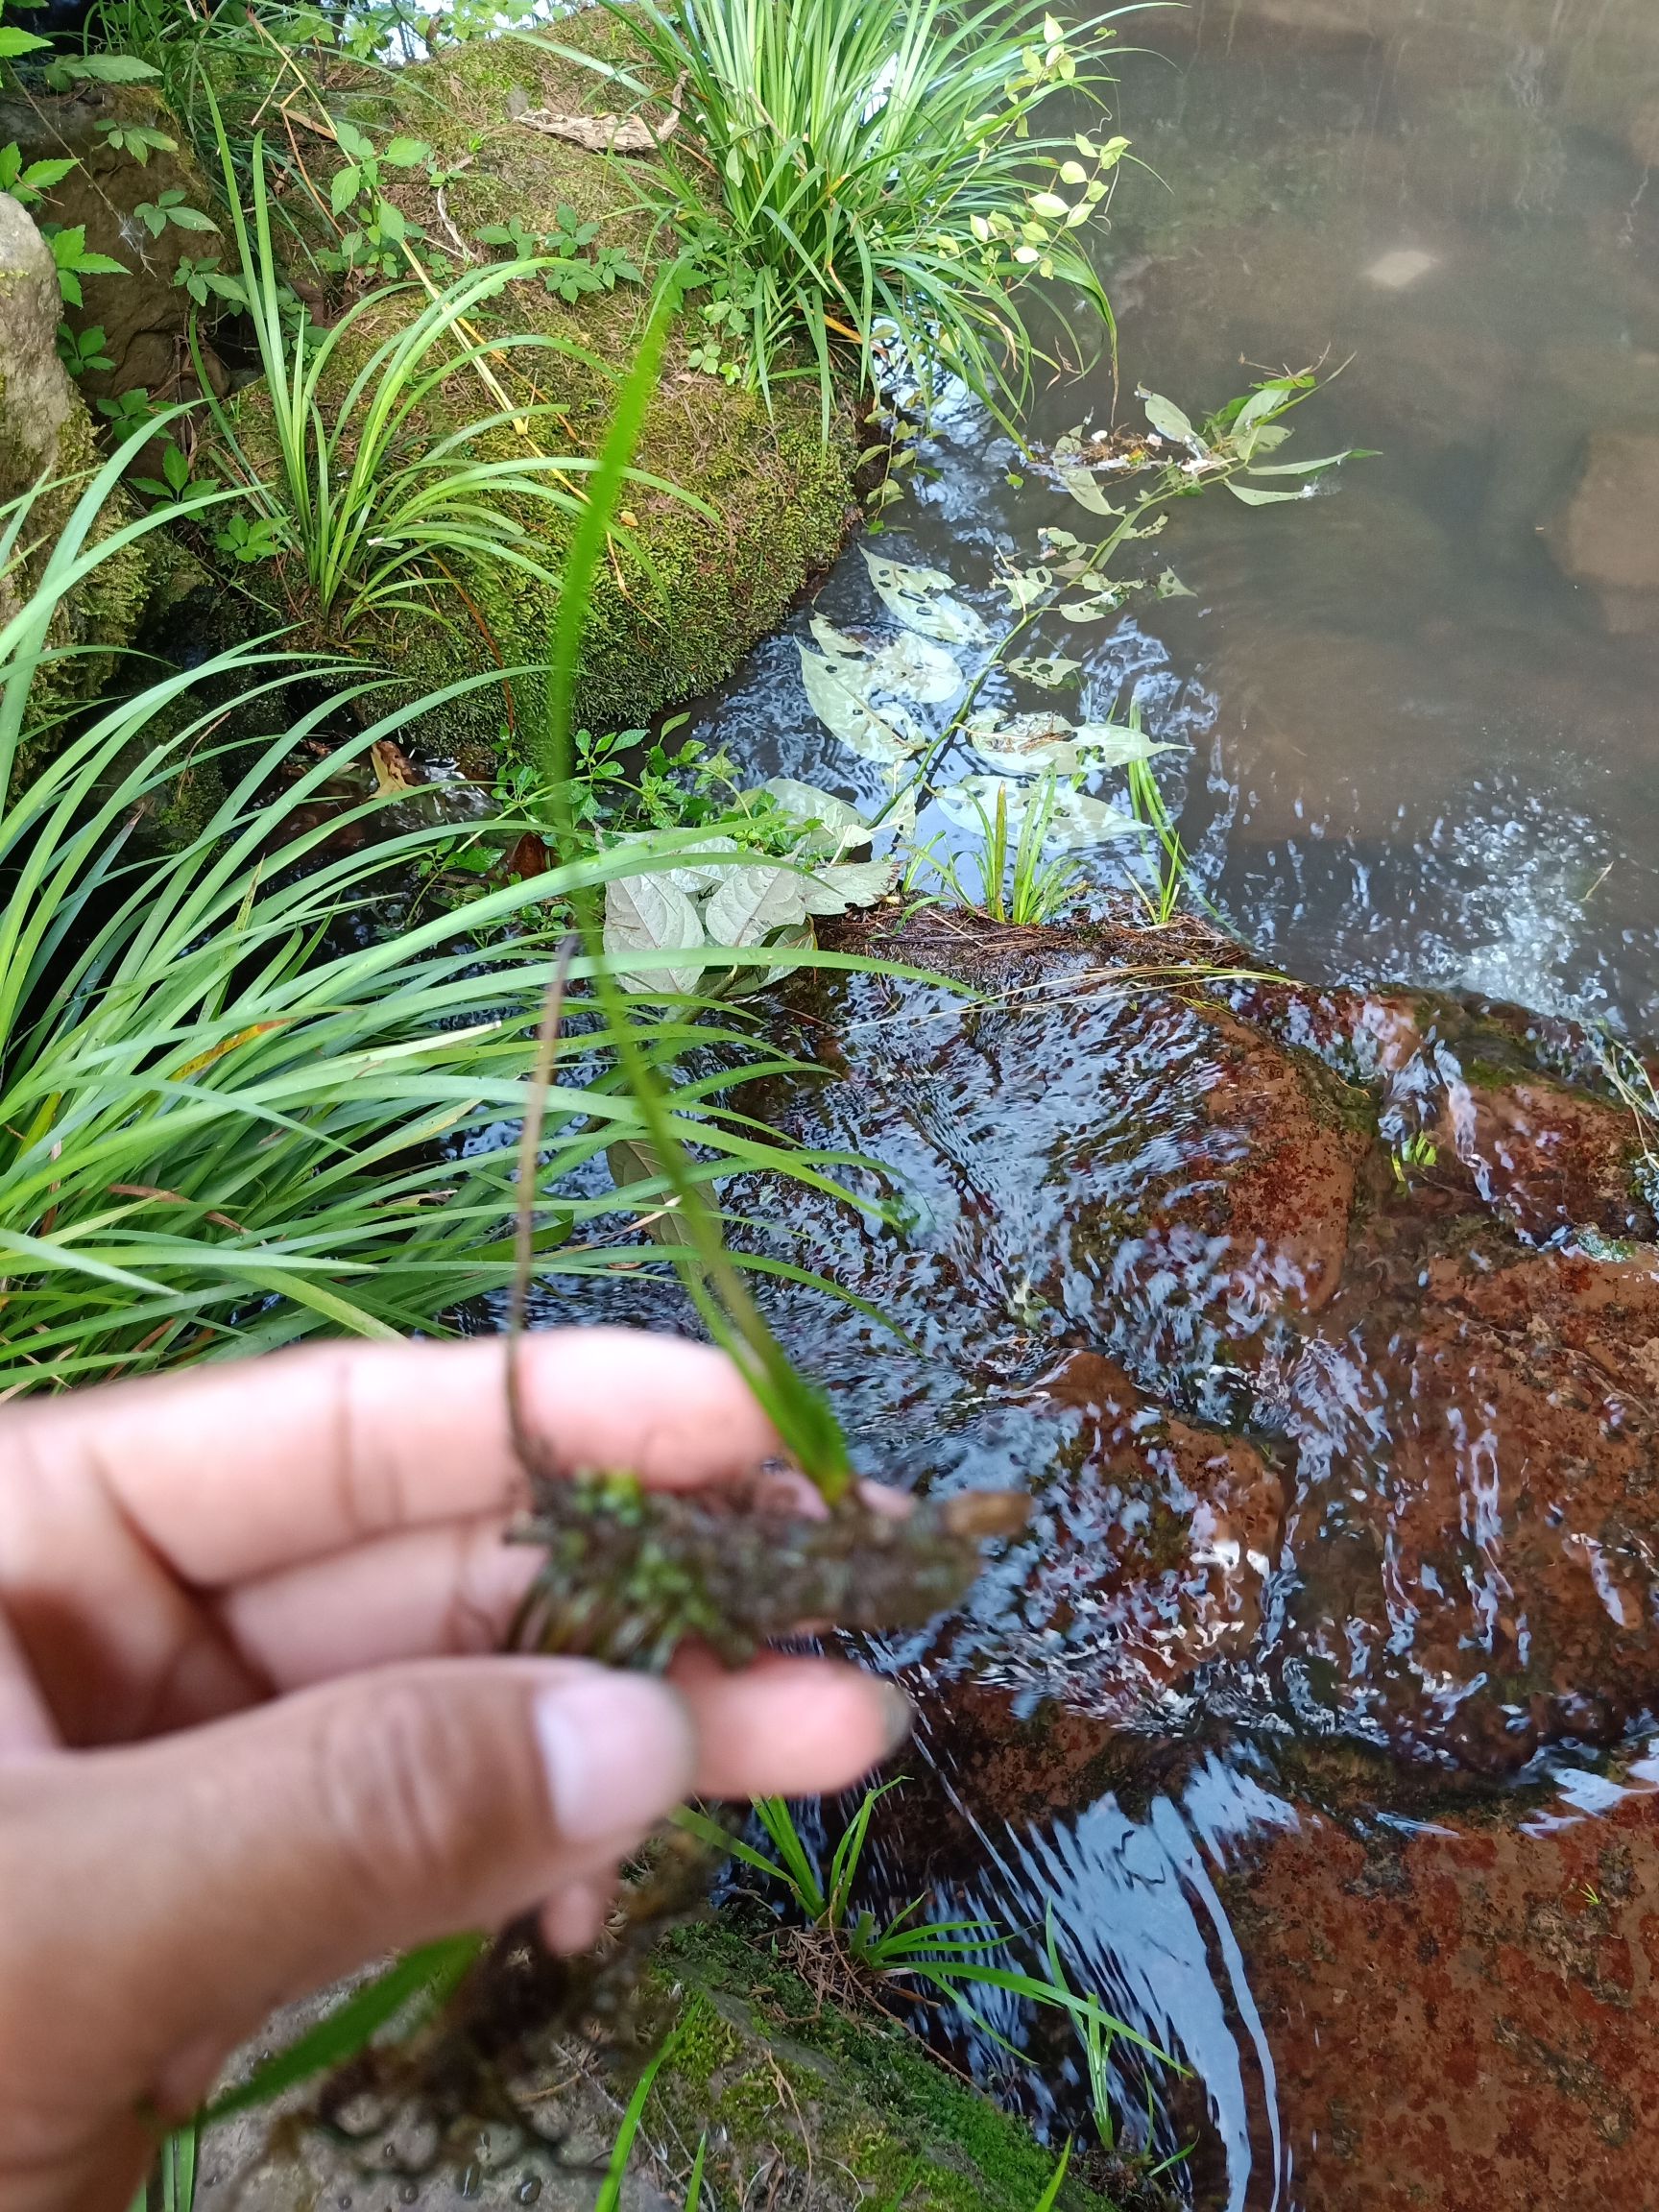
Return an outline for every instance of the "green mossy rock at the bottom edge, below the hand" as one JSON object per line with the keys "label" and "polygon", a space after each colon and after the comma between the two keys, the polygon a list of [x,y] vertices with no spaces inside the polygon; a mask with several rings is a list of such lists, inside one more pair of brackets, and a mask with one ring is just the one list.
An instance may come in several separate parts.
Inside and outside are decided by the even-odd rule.
{"label": "green mossy rock at the bottom edge, below the hand", "polygon": [[[241,2079],[343,1993],[290,2006],[226,2079]],[[801,2212],[1035,2212],[1053,2179],[1057,2154],[1024,2121],[940,2066],[898,2022],[810,1989],[774,1955],[765,1929],[710,1920],[675,1931],[646,1969],[639,2011],[641,2026],[675,2042],[635,2137],[624,2212],[679,2212],[703,2135],[703,2212],[759,2201]],[[555,2159],[489,2128],[467,2166],[445,2161],[405,2183],[403,2203],[447,2212],[460,2194],[478,2212],[526,2203],[591,2212],[633,2068],[637,2057],[613,2068],[586,2046],[560,2048],[549,2088],[535,2097],[542,2126],[560,2141]],[[292,2106],[290,2097],[279,2110]],[[208,2132],[197,2212],[314,2212],[358,2179],[316,2137],[292,2154],[265,2154],[270,2130],[270,2110],[257,2110]],[[1079,2163],[1057,2212],[1115,2212],[1113,2199],[1077,2179]],[[1146,2188],[1126,2199],[1152,2201],[1164,2199]]]}

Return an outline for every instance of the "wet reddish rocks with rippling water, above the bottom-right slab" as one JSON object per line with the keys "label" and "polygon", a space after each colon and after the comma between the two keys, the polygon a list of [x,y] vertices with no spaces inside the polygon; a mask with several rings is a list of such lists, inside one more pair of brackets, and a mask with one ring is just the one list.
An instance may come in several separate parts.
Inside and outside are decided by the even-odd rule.
{"label": "wet reddish rocks with rippling water, above the bottom-right slab", "polygon": [[1199,922],[845,942],[973,995],[807,1013],[830,1082],[768,1110],[896,1214],[792,1197],[790,1254],[909,1345],[801,1301],[799,1349],[872,1467],[1037,1504],[933,1679],[1489,1776],[1659,1699],[1659,1263],[1588,1040]]}

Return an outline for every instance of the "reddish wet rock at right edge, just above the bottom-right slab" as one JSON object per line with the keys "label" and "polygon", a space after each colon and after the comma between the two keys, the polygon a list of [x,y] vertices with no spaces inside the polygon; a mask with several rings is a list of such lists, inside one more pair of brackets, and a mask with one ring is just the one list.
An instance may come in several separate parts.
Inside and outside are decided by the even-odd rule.
{"label": "reddish wet rock at right edge, just above the bottom-right slab", "polygon": [[1484,1232],[1411,1254],[1409,1292],[1356,1281],[1329,1325],[1340,1354],[1318,1340],[1290,1378],[1283,1663],[1469,1767],[1608,1741],[1659,1688],[1659,1274]]}

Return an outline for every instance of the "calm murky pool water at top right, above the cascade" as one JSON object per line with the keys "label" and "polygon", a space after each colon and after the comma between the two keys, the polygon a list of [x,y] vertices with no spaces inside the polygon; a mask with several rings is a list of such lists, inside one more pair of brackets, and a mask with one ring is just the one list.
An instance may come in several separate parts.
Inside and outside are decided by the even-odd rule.
{"label": "calm murky pool water at top right, above the cascade", "polygon": [[[1380,458],[1314,507],[1179,513],[1192,602],[1048,639],[1086,661],[1084,712],[1139,692],[1194,745],[1186,838],[1265,956],[1659,1026],[1650,9],[1568,29],[1546,0],[1203,0],[1135,35],[1164,51],[1124,64],[1124,122],[1166,184],[1130,175],[1115,204],[1121,389],[1197,409],[1241,363],[1352,356],[1296,451]],[[1037,427],[1110,409],[1095,376]],[[929,460],[889,546],[969,586],[1079,520],[1011,489],[967,409]],[[876,613],[856,560],[823,608]],[[792,661],[765,648],[708,726],[768,770],[869,785]]]}

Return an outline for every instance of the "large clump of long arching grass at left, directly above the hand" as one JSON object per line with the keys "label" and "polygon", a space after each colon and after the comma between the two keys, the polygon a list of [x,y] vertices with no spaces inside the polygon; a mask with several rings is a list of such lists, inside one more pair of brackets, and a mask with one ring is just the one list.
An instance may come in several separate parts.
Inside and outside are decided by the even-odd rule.
{"label": "large clump of long arching grass at left, directly above the hand", "polygon": [[[69,732],[29,723],[33,679],[58,659],[49,637],[64,593],[159,526],[148,515],[91,538],[144,436],[84,489],[35,591],[0,628],[0,1387],[11,1391],[319,1329],[442,1329],[462,1301],[507,1285],[504,1128],[522,1110],[551,953],[584,883],[602,889],[639,867],[577,845],[564,867],[487,891],[465,933],[449,916],[387,933],[374,900],[451,830],[387,818],[394,801],[374,794],[365,765],[431,701],[325,741],[332,714],[372,690],[347,664],[232,648]],[[22,557],[27,515],[20,502],[0,518],[0,566]],[[338,688],[290,719],[294,675]],[[478,681],[489,677],[438,703]],[[230,748],[226,714],[272,710],[274,734]],[[144,845],[144,816],[175,779],[215,768],[228,787],[199,834],[179,852]],[[343,776],[358,779],[361,801],[327,799]],[[577,962],[577,978],[586,969]],[[633,1057],[668,1071],[699,1044],[752,1060],[741,1018],[703,1022],[703,1011],[695,993],[677,995],[641,1024]],[[580,1071],[549,1099],[544,1188],[617,1139],[648,1137],[606,1037],[571,1040],[577,1053]],[[787,1172],[794,1157],[723,1119],[703,1086],[655,1119],[675,1146],[697,1146],[690,1183],[737,1164]],[[549,1203],[538,1265],[613,1265],[582,1234],[611,1203]]]}

